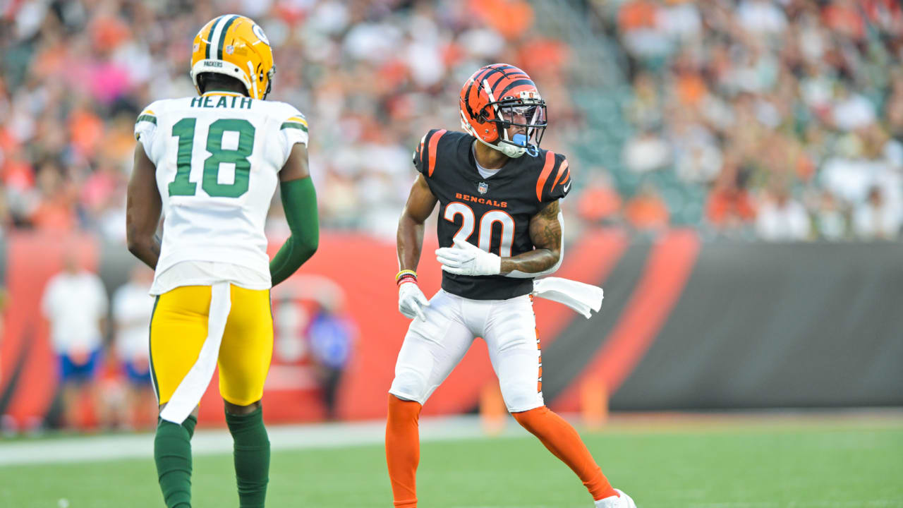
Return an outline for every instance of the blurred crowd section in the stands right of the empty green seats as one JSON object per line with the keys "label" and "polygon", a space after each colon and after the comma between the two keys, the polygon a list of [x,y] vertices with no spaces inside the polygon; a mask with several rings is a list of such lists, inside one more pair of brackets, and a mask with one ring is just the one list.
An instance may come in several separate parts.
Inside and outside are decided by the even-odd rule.
{"label": "blurred crowd section in the stands right of the empty green seats", "polygon": [[[634,134],[624,164],[703,186],[704,229],[764,240],[898,237],[896,0],[594,7],[628,54]],[[655,188],[638,196],[638,219],[668,221]]]}

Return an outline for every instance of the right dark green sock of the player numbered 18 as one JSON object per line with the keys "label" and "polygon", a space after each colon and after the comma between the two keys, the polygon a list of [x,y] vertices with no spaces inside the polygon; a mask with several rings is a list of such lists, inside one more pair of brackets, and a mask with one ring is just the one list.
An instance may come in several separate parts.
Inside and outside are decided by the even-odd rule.
{"label": "right dark green sock of the player numbered 18", "polygon": [[247,415],[226,413],[228,431],[235,441],[235,477],[240,508],[263,508],[270,473],[270,438],[264,427],[264,411]]}

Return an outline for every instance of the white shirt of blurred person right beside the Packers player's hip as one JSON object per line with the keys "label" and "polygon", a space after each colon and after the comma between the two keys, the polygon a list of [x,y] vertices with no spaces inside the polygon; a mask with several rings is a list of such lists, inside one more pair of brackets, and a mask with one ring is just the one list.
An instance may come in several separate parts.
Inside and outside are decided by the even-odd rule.
{"label": "white shirt of blurred person right beside the Packers player's hip", "polygon": [[113,295],[116,353],[123,362],[146,362],[150,356],[148,335],[154,311],[150,290],[149,286],[128,282]]}

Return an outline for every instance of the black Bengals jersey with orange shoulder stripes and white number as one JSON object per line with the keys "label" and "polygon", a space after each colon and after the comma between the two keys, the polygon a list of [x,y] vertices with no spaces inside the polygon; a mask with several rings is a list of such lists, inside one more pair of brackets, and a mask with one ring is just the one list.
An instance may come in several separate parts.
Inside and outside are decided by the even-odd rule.
{"label": "black Bengals jersey with orange shoulder stripes and white number", "polygon": [[[440,247],[455,237],[502,258],[529,252],[530,218],[571,190],[564,155],[538,150],[511,158],[483,178],[473,156],[476,138],[431,130],[414,151],[414,166],[439,200]],[[442,272],[442,289],[474,300],[500,300],[533,291],[532,278],[470,277]]]}

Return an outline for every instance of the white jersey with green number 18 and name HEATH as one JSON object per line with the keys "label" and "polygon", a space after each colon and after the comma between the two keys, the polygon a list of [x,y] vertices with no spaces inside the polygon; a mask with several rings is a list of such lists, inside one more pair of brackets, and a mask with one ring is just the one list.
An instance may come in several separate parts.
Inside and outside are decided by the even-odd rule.
{"label": "white jersey with green number 18 and name HEATH", "polygon": [[266,212],[292,147],[307,144],[303,115],[284,102],[210,92],[152,103],[135,138],[156,166],[163,200],[154,286],[168,268],[195,261],[213,263],[207,275],[223,263],[251,270],[267,281],[251,288],[268,288]]}

